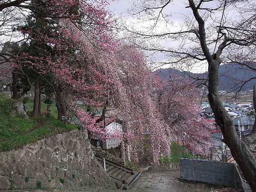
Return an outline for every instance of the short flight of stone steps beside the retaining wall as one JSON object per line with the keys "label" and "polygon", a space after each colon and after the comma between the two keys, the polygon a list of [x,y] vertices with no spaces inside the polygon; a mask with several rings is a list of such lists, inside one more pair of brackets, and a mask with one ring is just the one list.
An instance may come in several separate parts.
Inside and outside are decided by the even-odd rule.
{"label": "short flight of stone steps beside the retaining wall", "polygon": [[[99,164],[104,168],[104,160],[102,157],[95,155]],[[130,169],[124,165],[115,163],[111,160],[105,159],[105,169],[110,177],[115,179],[117,182],[128,183],[134,177],[134,170]]]}

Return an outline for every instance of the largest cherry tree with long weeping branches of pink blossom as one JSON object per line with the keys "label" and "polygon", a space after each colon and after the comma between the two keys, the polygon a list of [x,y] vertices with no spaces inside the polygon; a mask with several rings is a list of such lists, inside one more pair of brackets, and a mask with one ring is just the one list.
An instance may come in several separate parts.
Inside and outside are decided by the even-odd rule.
{"label": "largest cherry tree with long weeping branches of pink blossom", "polygon": [[[151,72],[143,54],[113,38],[116,21],[104,9],[105,1],[100,2],[79,2],[82,10],[75,13],[76,2],[39,2],[32,12],[43,25],[19,28],[37,52],[19,52],[13,67],[21,73],[22,67],[29,67],[52,86],[59,119],[69,108],[88,131],[101,134],[102,139],[117,137],[125,141],[131,146],[134,160],[140,138],[149,133],[152,159],[157,163],[161,152],[170,152],[172,130],[160,118],[150,97]],[[67,96],[71,96],[69,102]],[[78,100],[91,108],[117,106],[123,131],[106,134],[94,125],[89,112],[76,105]]]}

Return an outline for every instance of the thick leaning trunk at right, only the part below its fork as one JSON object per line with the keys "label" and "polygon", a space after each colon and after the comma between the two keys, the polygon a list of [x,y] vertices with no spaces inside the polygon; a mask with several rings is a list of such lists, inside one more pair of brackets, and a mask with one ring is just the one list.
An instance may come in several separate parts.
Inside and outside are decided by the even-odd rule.
{"label": "thick leaning trunk at right, only the part below its fork", "polygon": [[224,143],[230,148],[232,156],[241,168],[252,191],[256,192],[256,160],[250,152],[250,148],[236,134],[233,120],[218,97],[218,67],[220,62],[212,60],[209,64],[209,103],[214,112],[215,120],[221,128]]}

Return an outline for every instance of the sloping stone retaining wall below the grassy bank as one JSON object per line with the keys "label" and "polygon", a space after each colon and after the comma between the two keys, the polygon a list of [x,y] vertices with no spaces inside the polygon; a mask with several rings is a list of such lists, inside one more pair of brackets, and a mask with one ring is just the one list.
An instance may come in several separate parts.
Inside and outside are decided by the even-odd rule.
{"label": "sloping stone retaining wall below the grassy bank", "polygon": [[0,189],[115,189],[97,163],[87,132],[58,134],[0,153]]}

